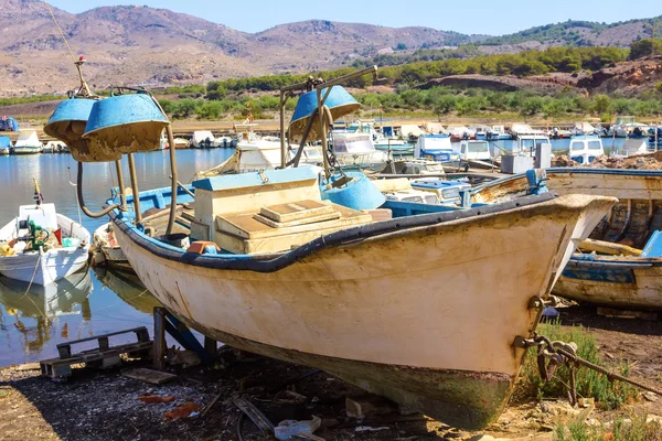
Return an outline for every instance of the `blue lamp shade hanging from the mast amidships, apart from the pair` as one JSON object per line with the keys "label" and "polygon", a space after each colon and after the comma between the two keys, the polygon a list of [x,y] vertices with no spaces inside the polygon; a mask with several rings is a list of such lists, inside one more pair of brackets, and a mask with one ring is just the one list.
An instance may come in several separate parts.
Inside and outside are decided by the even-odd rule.
{"label": "blue lamp shade hanging from the mast amidships, apart from the pair", "polygon": [[[327,94],[328,89],[322,89],[322,98]],[[340,119],[345,115],[359,110],[361,105],[350,95],[342,86],[331,87],[331,93],[324,101],[324,106],[331,110],[333,120]],[[308,126],[308,120],[312,116],[312,112],[318,107],[317,90],[307,92],[299,97],[295,115],[289,126],[289,137],[292,142],[300,142],[303,131]],[[319,141],[321,137],[321,128],[319,122],[319,115],[314,116],[316,121],[313,122],[310,133],[308,135],[308,141]]]}

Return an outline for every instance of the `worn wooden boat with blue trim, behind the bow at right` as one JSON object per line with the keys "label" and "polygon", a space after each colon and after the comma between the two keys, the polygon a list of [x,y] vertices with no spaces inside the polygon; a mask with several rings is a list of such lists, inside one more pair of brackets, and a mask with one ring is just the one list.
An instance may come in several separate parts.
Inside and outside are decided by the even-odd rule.
{"label": "worn wooden boat with blue trim, behind the bow at right", "polygon": [[[568,261],[554,293],[602,306],[662,310],[662,172],[549,169],[546,185],[559,195],[580,193],[619,202]],[[526,194],[523,175],[476,190],[476,202]]]}

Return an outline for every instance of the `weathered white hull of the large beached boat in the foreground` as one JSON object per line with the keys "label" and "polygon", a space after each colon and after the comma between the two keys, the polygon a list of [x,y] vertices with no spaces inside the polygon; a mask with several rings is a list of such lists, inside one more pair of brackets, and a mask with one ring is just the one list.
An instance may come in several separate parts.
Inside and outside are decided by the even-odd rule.
{"label": "weathered white hull of the large beached boat in the foreground", "polygon": [[122,219],[146,287],[226,344],[320,367],[451,424],[505,406],[545,297],[613,198],[566,196],[316,251],[273,272],[161,257]]}

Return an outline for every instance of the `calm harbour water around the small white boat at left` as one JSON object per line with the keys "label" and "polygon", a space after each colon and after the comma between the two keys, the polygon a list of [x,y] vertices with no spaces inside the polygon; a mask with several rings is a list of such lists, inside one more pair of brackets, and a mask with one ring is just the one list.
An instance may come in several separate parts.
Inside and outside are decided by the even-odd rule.
{"label": "calm harbour water around the small white boat at left", "polygon": [[[217,165],[232,152],[178,150],[180,181],[189,182],[195,171]],[[168,158],[168,151],[136,154],[140,191],[169,186]],[[38,179],[46,202],[55,203],[60,213],[77,220],[75,187],[70,185],[68,174],[71,168],[74,182],[76,166],[70,154],[0,157],[0,226],[18,215],[19,205],[32,202],[32,176]],[[107,163],[85,165],[85,203],[92,211],[100,209],[110,186],[117,184],[111,175]],[[125,180],[128,185],[126,168]],[[82,219],[90,234],[107,222],[85,215]],[[0,278],[0,366],[55,357],[55,345],[67,340],[140,325],[148,326],[151,334],[151,311],[157,301],[135,275],[90,269],[56,284],[31,287],[26,292],[26,283]],[[111,344],[121,341],[111,340]]]}

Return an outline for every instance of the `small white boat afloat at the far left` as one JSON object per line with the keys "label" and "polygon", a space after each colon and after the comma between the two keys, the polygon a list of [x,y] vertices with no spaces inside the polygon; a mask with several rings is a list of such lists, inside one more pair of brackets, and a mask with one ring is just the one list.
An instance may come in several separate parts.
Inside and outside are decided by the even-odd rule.
{"label": "small white boat afloat at the far left", "polygon": [[21,205],[19,216],[0,229],[0,273],[49,284],[87,265],[89,233],[55,211],[55,204]]}

